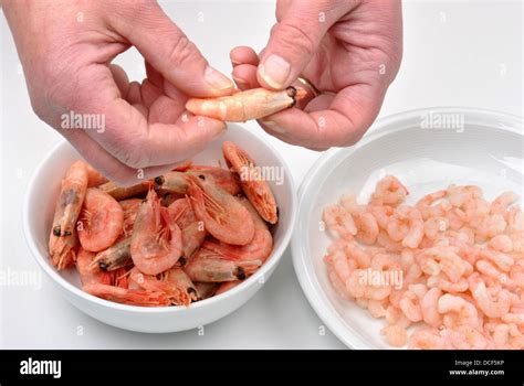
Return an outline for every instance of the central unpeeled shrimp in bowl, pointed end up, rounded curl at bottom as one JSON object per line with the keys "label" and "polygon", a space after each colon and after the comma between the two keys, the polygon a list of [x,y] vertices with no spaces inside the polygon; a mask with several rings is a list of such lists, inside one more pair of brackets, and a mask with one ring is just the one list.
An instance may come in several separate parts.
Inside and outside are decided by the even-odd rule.
{"label": "central unpeeled shrimp in bowl, pointed end up, rounded curl at bottom", "polygon": [[146,275],[171,268],[181,255],[181,232],[160,206],[155,191],[140,204],[133,229],[130,254],[135,266]]}

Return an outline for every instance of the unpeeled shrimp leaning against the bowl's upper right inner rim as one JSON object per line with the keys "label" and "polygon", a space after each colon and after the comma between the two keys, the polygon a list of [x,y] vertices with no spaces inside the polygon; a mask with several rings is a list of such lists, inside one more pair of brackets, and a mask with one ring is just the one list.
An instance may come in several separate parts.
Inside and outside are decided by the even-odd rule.
{"label": "unpeeled shrimp leaning against the bowl's upper right inner rim", "polygon": [[228,167],[240,176],[242,191],[260,216],[270,224],[276,224],[276,200],[253,159],[231,141],[222,143],[222,153]]}

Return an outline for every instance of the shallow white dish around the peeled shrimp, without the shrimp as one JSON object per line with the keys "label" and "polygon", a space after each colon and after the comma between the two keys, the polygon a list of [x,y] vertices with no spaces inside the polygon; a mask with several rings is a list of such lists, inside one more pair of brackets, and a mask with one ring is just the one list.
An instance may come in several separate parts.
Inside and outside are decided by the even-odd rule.
{"label": "shallow white dish around the peeled shrimp, without the shrimp", "polygon": [[384,320],[338,297],[328,282],[323,256],[331,238],[319,226],[327,204],[348,191],[366,203],[385,174],[398,176],[408,187],[410,204],[451,183],[476,184],[490,200],[505,190],[522,196],[523,153],[521,118],[434,108],[379,120],[356,146],[321,157],[298,190],[292,251],[300,283],[333,333],[353,349],[391,349],[379,334]]}

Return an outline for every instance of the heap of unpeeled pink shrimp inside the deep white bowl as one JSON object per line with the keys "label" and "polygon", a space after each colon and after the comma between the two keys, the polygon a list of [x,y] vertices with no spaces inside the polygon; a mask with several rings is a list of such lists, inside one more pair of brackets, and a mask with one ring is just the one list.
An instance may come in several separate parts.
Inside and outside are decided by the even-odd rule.
{"label": "heap of unpeeled pink shrimp inside the deep white bowl", "polygon": [[227,169],[186,162],[129,187],[74,162],[54,212],[53,265],[76,269],[85,292],[140,307],[238,286],[271,255],[277,206],[253,159],[233,142],[222,151]]}

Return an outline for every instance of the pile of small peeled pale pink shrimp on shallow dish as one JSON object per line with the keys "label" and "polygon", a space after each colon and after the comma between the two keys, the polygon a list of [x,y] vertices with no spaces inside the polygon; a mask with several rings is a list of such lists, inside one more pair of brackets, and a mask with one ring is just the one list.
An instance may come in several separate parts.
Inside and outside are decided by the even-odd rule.
{"label": "pile of small peeled pale pink shrimp on shallow dish", "polygon": [[524,349],[524,214],[509,191],[493,201],[450,185],[406,204],[392,175],[367,204],[347,193],[324,210],[324,257],[335,292],[385,320],[409,349]]}

